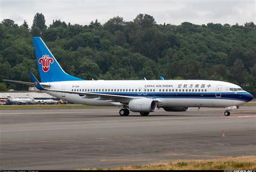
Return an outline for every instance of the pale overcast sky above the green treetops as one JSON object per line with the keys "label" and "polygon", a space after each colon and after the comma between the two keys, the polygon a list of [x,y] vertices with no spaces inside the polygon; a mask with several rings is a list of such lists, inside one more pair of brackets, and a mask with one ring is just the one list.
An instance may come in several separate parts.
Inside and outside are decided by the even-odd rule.
{"label": "pale overcast sky above the green treetops", "polygon": [[89,25],[93,20],[104,24],[120,16],[131,21],[139,13],[151,15],[157,24],[180,25],[221,23],[243,25],[255,22],[256,0],[0,0],[0,21],[10,18],[18,25],[24,20],[32,25],[37,12],[43,13],[46,25],[54,19]]}

